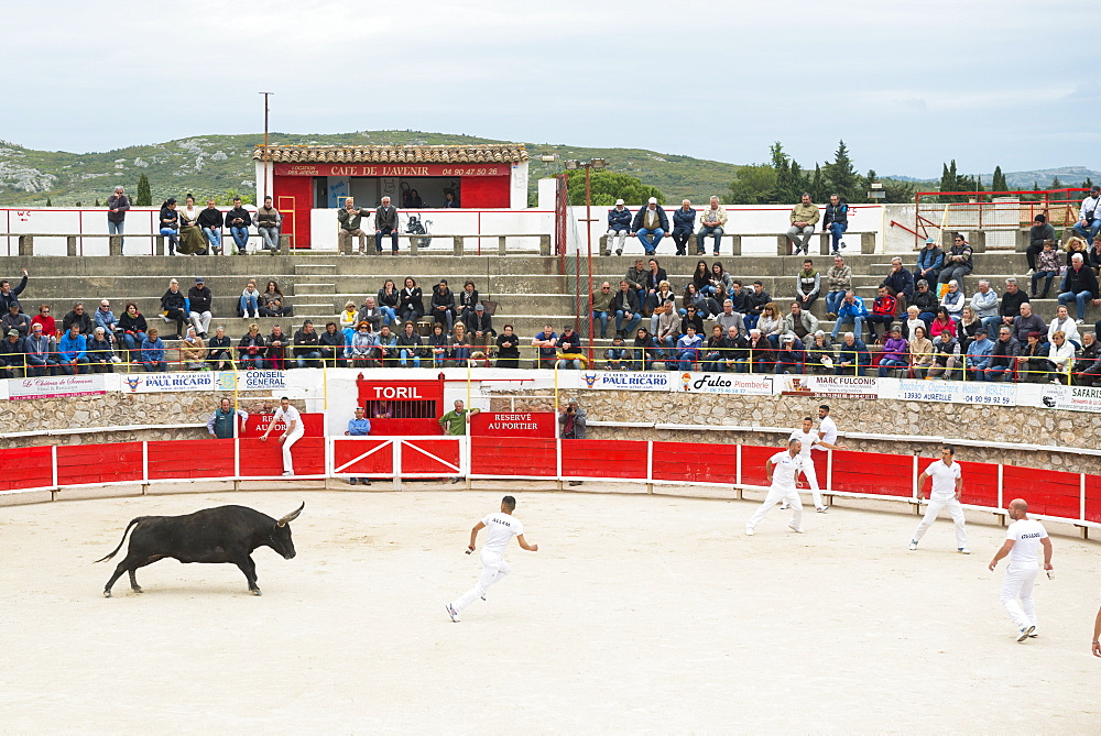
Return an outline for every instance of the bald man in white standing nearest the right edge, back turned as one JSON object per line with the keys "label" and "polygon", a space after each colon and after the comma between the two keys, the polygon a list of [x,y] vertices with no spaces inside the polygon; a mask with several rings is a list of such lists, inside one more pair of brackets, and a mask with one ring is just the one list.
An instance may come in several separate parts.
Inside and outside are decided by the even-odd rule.
{"label": "bald man in white standing nearest the right edge, back turned", "polygon": [[1010,556],[1005,581],[1002,583],[1002,605],[1010,612],[1010,618],[1017,626],[1017,641],[1024,641],[1031,636],[1036,636],[1036,602],[1032,597],[1036,575],[1039,573],[1036,551],[1040,545],[1044,546],[1044,569],[1053,570],[1051,540],[1043,524],[1028,518],[1028,504],[1024,498],[1011,501],[1006,510],[1013,524],[1005,530],[1005,543],[994,553],[994,559],[990,561],[990,570],[993,572],[998,561],[1006,554]]}

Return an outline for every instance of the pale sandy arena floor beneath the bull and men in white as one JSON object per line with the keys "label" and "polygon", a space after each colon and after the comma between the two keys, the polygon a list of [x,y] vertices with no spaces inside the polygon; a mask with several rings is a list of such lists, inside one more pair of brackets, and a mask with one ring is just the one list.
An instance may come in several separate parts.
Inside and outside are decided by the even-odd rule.
{"label": "pale sandy arena floor beneath the bull and men in white", "polygon": [[[425,487],[424,485],[418,487]],[[586,484],[586,490],[596,490]],[[1016,644],[986,570],[1002,530],[755,501],[517,493],[537,553],[460,624],[470,527],[501,491],[189,493],[0,507],[0,730],[1097,733],[1101,547],[1056,532]],[[127,521],[243,504],[292,526],[237,568],[154,563],[101,596]],[[843,504],[844,502],[842,502]],[[971,518],[971,517],[969,517]],[[124,550],[123,552],[124,553]],[[121,554],[120,553],[120,554]]]}

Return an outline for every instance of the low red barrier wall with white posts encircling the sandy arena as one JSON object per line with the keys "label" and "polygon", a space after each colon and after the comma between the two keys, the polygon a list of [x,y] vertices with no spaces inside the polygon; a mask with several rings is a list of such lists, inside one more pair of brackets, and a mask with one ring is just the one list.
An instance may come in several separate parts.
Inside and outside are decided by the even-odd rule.
{"label": "low red barrier wall with white posts encircling the sandy arena", "polygon": [[[776,446],[706,446],[650,440],[521,437],[303,437],[293,449],[298,479],[393,480],[465,475],[471,480],[617,481],[647,487],[701,484],[732,490],[766,485]],[[831,450],[815,452],[824,493],[916,504],[917,476],[934,458]],[[1036,516],[1101,528],[1101,475],[960,462],[963,504],[1000,513],[1023,496]],[[0,493],[179,481],[280,480],[273,437],[32,447],[0,453]],[[277,487],[277,486],[273,486]]]}

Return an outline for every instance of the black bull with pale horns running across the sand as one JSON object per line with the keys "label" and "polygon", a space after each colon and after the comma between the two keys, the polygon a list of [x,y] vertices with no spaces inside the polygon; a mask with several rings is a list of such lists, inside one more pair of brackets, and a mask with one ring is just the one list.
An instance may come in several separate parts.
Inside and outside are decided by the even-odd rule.
{"label": "black bull with pale horns running across the sand", "polygon": [[103,595],[111,597],[111,586],[123,572],[130,573],[130,586],[135,593],[141,593],[134,572],[166,557],[181,562],[232,562],[244,573],[252,594],[260,595],[252,552],[258,547],[271,547],[285,559],[293,558],[295,551],[290,524],[298,518],[305,506],[303,502],[298,510],[281,519],[273,519],[247,506],[217,506],[184,516],[139,516],[127,525],[115,551],[96,560],[102,562],[115,557],[122,549],[130,527],[133,527],[127,557],[107,581]]}

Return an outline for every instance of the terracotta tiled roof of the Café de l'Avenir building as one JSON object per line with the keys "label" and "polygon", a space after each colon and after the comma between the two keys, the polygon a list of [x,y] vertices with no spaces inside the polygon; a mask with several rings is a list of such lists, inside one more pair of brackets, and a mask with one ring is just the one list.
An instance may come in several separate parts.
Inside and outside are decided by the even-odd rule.
{"label": "terracotta tiled roof of the Caf\u00e9 de l'Avenir building", "polygon": [[[277,164],[503,164],[527,161],[517,145],[272,145],[268,160]],[[264,146],[252,153],[263,161]]]}

